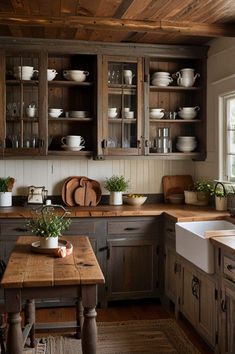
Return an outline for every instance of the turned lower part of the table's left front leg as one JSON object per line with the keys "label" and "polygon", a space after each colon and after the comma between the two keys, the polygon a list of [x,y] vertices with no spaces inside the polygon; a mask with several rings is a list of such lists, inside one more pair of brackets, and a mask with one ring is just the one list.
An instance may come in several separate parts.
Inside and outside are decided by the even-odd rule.
{"label": "turned lower part of the table's left front leg", "polygon": [[22,354],[23,335],[20,312],[8,313],[7,354]]}

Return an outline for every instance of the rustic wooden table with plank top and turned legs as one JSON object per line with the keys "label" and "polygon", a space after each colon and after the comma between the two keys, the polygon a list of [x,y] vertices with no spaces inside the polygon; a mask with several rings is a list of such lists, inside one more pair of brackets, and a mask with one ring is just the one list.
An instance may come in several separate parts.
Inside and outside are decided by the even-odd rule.
{"label": "rustic wooden table with plank top and turned legs", "polygon": [[[73,244],[73,254],[57,258],[49,254],[33,253],[32,242],[36,237],[21,236],[10,256],[1,286],[4,288],[8,312],[7,353],[22,354],[24,334],[21,330],[22,303],[27,301],[26,322],[31,345],[34,345],[34,299],[73,298],[78,308],[82,302],[82,352],[96,353],[96,304],[97,285],[104,283],[104,276],[85,236],[64,238]],[[80,327],[81,313],[77,311]],[[80,341],[78,341],[78,345]]]}

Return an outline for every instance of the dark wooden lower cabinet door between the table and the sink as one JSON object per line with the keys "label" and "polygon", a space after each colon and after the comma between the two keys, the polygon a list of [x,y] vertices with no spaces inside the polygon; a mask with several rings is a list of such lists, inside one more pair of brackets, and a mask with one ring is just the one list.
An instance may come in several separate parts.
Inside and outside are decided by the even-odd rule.
{"label": "dark wooden lower cabinet door between the table and the sink", "polygon": [[107,298],[130,299],[156,294],[157,242],[154,240],[108,240]]}

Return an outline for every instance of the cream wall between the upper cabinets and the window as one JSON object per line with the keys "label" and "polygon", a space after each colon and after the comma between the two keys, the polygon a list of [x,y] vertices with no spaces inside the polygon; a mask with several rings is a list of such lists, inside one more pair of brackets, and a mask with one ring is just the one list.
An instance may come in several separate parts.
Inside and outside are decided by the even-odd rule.
{"label": "cream wall between the upper cabinets and the window", "polygon": [[235,90],[235,39],[220,38],[209,43],[207,65],[207,159],[195,163],[195,177],[219,178],[218,95]]}

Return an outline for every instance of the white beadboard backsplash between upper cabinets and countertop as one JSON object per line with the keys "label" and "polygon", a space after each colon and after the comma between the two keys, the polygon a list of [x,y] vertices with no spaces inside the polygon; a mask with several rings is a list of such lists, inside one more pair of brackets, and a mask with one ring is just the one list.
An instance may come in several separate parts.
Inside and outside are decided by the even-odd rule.
{"label": "white beadboard backsplash between upper cabinets and countertop", "polygon": [[60,195],[62,185],[70,176],[87,176],[97,180],[102,193],[106,177],[123,175],[130,181],[128,192],[162,193],[162,176],[191,174],[190,160],[6,160],[0,163],[0,176],[16,179],[13,195],[27,195],[28,186],[45,186],[49,195]]}

